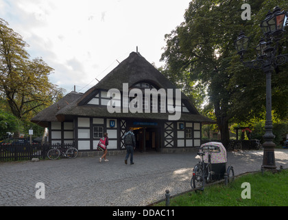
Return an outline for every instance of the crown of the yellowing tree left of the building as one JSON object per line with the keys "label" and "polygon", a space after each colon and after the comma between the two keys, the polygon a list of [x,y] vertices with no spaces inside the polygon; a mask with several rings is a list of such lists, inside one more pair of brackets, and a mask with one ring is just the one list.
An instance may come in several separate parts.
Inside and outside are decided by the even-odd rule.
{"label": "crown of the yellowing tree left of the building", "polygon": [[0,96],[17,118],[52,104],[63,89],[49,83],[53,69],[42,60],[29,60],[22,37],[0,19]]}

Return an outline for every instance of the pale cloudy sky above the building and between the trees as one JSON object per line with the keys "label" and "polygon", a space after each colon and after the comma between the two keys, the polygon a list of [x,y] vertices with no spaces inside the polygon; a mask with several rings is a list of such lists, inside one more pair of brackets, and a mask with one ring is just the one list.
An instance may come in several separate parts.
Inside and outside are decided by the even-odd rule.
{"label": "pale cloudy sky above the building and between the trees", "polygon": [[149,63],[164,65],[165,34],[184,21],[190,1],[0,0],[0,17],[29,45],[31,59],[54,69],[51,83],[84,93],[136,46]]}

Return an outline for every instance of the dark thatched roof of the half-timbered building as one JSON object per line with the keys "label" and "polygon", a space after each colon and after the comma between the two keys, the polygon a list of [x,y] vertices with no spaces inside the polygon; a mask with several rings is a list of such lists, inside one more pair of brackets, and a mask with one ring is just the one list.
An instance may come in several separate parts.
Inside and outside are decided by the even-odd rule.
{"label": "dark thatched roof of the half-timbered building", "polygon": [[[51,105],[47,109],[36,115],[32,122],[40,121],[64,121],[73,116],[86,117],[108,117],[108,118],[143,118],[150,120],[167,120],[169,113],[109,113],[106,107],[96,107],[87,105],[87,103],[95,97],[99,89],[109,90],[112,88],[122,91],[123,84],[128,83],[129,87],[136,83],[145,82],[152,83],[158,88],[176,89],[176,87],[163,74],[143,58],[139,53],[132,52],[128,58],[121,62],[115,69],[105,76],[97,85],[88,89],[84,94],[71,92],[62,98],[58,103]],[[69,104],[67,104],[66,100]],[[182,94],[182,100],[186,102],[191,113],[182,113],[180,120],[188,120],[194,122],[214,121],[200,115],[195,109],[191,100]],[[60,106],[60,109],[58,108]],[[171,114],[170,114],[171,115]]]}

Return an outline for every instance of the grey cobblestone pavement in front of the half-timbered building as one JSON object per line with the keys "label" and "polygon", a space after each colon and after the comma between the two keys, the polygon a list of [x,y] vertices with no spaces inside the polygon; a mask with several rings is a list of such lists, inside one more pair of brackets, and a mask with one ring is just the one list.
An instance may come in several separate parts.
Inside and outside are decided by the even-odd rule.
{"label": "grey cobblestone pavement in front of the half-timbered building", "polygon": [[[276,149],[276,166],[287,168],[288,149]],[[0,163],[0,206],[145,206],[190,190],[196,153],[134,153],[124,156]],[[260,170],[263,151],[228,152],[235,175]],[[36,184],[45,184],[45,199],[36,199]]]}

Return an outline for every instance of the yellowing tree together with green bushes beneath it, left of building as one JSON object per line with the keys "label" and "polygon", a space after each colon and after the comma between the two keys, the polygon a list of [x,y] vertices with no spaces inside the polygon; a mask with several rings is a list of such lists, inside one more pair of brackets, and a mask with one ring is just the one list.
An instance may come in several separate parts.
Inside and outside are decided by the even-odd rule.
{"label": "yellowing tree together with green bushes beneath it, left of building", "polygon": [[64,89],[49,82],[53,69],[42,58],[29,59],[22,36],[0,19],[0,133],[24,133],[43,128],[30,122],[39,111],[63,96]]}

